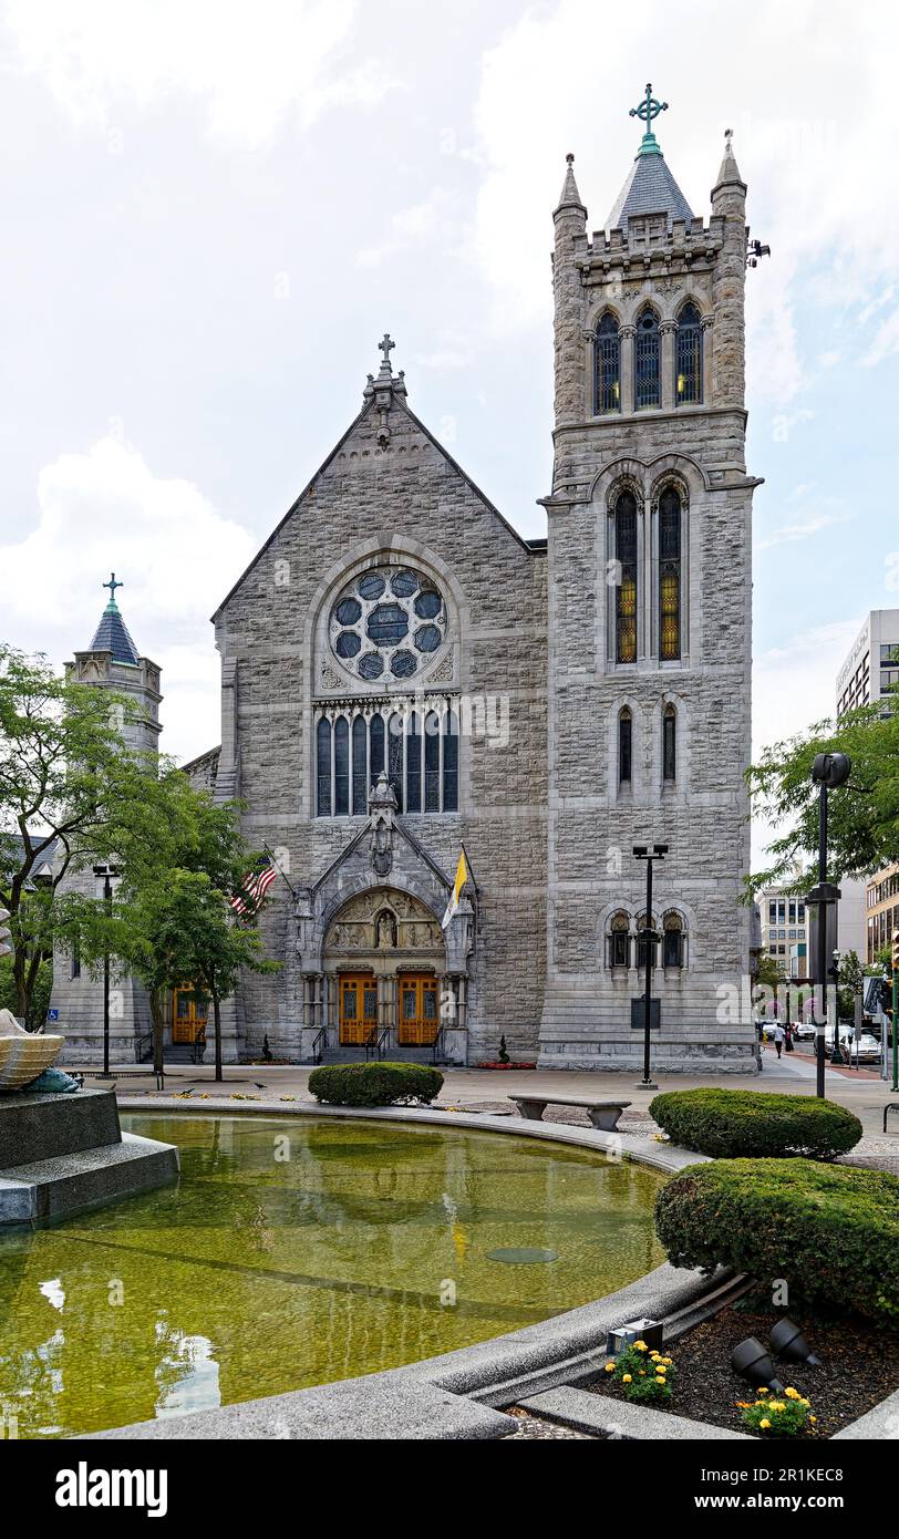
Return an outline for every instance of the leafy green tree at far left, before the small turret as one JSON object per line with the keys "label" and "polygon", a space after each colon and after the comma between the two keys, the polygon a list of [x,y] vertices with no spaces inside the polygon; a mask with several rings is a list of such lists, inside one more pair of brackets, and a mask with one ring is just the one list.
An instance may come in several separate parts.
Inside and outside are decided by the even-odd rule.
{"label": "leafy green tree at far left, before the small turret", "polygon": [[[92,862],[152,866],[177,833],[180,785],[122,736],[139,719],[134,702],[0,645],[0,906],[11,916],[15,1014],[26,1020],[66,877]],[[52,874],[37,883],[51,853]]]}

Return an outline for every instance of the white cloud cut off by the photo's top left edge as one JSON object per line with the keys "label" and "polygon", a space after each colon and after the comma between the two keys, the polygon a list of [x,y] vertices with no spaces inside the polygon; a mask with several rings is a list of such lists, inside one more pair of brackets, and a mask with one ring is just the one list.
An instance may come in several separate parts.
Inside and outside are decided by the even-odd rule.
{"label": "white cloud cut off by the photo's top left edge", "polygon": [[212,139],[259,146],[286,120],[371,106],[396,86],[377,58],[346,60],[356,0],[6,0],[20,65],[79,125],[171,95],[206,106]]}

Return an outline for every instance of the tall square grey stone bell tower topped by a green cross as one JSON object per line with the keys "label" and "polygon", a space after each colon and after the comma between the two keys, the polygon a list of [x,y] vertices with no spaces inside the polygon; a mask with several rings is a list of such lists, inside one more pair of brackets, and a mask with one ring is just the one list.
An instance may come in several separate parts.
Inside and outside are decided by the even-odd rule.
{"label": "tall square grey stone bell tower topped by a green cross", "polygon": [[[651,86],[631,108],[643,134],[602,228],[573,155],[553,215],[545,1067],[639,1068],[647,945],[654,1067],[751,1067],[747,186],[728,131],[694,214],[667,111]],[[654,842],[647,914],[633,848]]]}

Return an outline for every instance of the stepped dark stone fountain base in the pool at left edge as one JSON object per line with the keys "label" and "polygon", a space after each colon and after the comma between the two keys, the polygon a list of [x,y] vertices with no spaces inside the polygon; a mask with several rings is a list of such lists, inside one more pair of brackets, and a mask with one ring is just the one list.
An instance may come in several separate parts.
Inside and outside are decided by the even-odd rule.
{"label": "stepped dark stone fountain base in the pool at left edge", "polygon": [[122,1133],[111,1090],[0,1096],[0,1227],[66,1219],[177,1174],[174,1143]]}

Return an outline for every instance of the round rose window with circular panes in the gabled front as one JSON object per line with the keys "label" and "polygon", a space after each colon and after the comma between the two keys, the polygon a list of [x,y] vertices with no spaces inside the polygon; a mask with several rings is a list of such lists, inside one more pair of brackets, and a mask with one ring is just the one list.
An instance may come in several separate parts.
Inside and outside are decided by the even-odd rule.
{"label": "round rose window with circular panes in the gabled front", "polygon": [[422,573],[374,566],[337,597],[329,637],[334,656],[359,679],[411,679],[446,640],[446,605]]}

